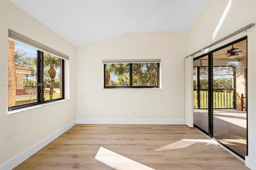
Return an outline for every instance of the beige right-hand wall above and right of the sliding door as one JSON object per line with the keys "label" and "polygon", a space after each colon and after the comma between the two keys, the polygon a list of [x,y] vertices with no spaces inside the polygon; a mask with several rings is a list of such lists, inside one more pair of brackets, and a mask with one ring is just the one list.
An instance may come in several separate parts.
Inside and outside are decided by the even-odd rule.
{"label": "beige right-hand wall above and right of the sliding door", "polygon": [[[228,8],[229,6],[230,8]],[[213,39],[214,31],[218,27],[218,23],[221,23],[219,21],[224,16],[225,9],[229,10],[226,10],[227,15],[223,18],[216,37]],[[255,0],[210,0],[202,14],[189,30],[188,53],[194,53],[250,23],[255,23],[255,11]],[[246,35],[248,35],[248,156],[246,157],[246,164],[256,169],[256,27],[254,26],[247,31],[243,31],[211,47],[208,51]]]}

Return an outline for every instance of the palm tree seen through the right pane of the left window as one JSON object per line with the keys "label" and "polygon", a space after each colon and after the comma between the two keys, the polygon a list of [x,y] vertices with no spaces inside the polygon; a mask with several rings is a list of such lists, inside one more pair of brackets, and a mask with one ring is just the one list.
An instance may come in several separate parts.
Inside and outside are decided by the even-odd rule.
{"label": "palm tree seen through the right pane of the left window", "polygon": [[50,83],[50,100],[51,100],[53,95],[55,76],[56,76],[55,69],[60,67],[60,62],[58,57],[50,55],[49,53],[44,53],[44,67],[49,68],[48,74],[51,78],[51,83]]}

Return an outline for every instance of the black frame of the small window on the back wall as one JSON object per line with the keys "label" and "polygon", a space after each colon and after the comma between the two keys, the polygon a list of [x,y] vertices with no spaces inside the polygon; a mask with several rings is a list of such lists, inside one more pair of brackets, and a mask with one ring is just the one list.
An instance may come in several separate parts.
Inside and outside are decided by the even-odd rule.
{"label": "black frame of the small window on the back wall", "polygon": [[[144,62],[147,63],[147,62]],[[148,62],[150,63],[150,62]],[[111,63],[104,63],[103,67],[104,67],[104,89],[105,88],[160,88],[160,62],[155,62],[157,64],[157,86],[133,86],[132,85],[132,64],[138,64],[138,63],[127,63],[130,64],[129,68],[130,68],[130,86],[106,86],[106,64],[111,64]],[[116,63],[112,63],[112,64],[116,64]]]}

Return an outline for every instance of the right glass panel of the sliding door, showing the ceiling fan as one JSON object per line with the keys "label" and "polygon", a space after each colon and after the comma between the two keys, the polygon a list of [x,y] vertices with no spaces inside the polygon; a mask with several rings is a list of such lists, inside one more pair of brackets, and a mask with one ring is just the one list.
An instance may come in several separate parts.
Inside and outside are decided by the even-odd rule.
{"label": "right glass panel of the sliding door, showing the ceiling fan", "polygon": [[213,137],[241,156],[247,149],[246,41],[213,53]]}

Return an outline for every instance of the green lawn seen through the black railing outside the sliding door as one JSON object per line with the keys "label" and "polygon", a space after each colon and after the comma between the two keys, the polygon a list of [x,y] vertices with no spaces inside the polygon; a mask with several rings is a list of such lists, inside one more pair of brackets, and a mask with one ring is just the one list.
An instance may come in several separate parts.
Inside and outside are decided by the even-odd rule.
{"label": "green lawn seen through the black railing outside the sliding door", "polygon": [[[194,108],[197,108],[196,91],[194,91]],[[200,108],[208,108],[208,92],[200,91]],[[233,92],[214,92],[213,108],[233,108]]]}

